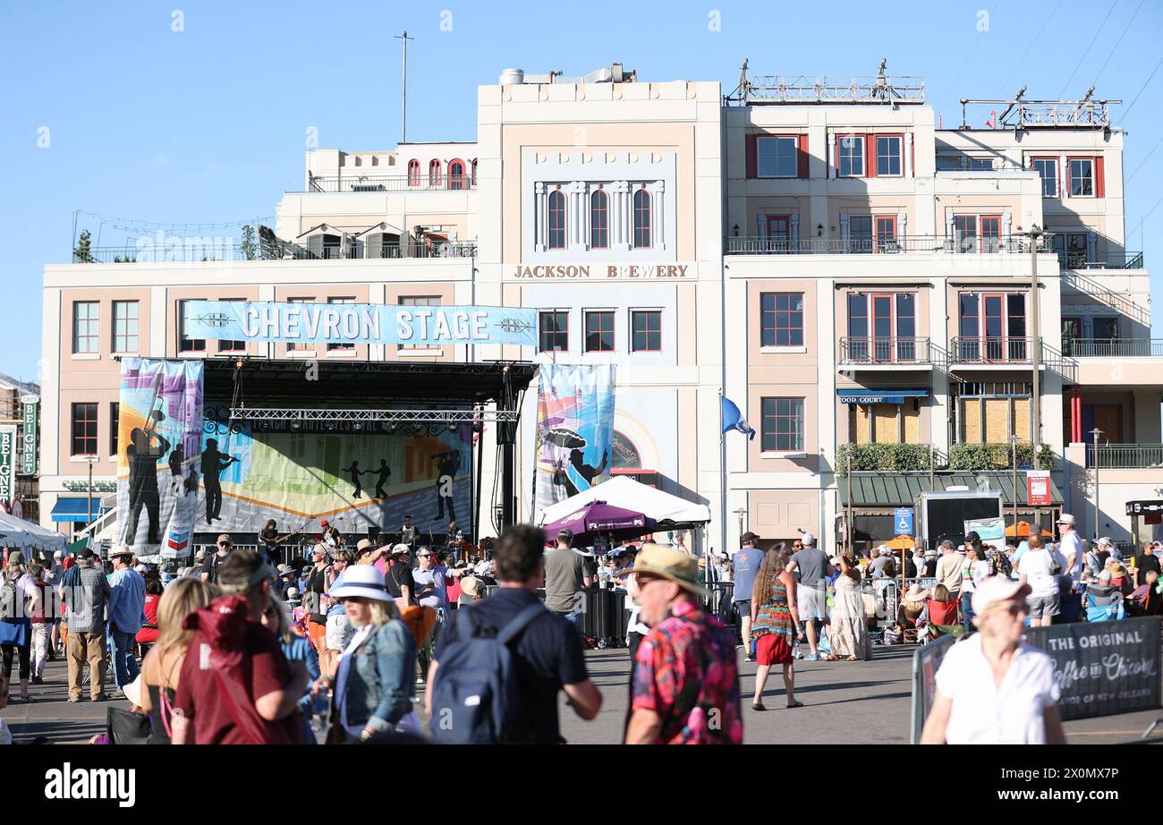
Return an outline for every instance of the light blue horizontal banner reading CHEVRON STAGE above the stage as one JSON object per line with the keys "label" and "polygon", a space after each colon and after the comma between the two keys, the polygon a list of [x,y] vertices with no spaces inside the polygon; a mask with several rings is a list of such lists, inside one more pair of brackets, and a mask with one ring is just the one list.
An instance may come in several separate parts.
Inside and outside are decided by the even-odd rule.
{"label": "light blue horizontal banner reading CHEVRON STAGE above the stage", "polygon": [[537,311],[502,306],[190,300],[183,325],[186,337],[224,341],[537,346]]}

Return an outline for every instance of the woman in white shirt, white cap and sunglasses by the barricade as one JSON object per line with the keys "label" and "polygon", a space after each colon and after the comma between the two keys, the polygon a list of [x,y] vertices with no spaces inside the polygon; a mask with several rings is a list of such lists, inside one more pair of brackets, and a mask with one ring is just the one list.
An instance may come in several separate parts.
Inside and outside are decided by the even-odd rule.
{"label": "woman in white shirt, white cap and sunglasses by the barricade", "polygon": [[1054,662],[1021,641],[1029,585],[991,576],[973,593],[978,633],[950,648],[922,745],[1063,745]]}

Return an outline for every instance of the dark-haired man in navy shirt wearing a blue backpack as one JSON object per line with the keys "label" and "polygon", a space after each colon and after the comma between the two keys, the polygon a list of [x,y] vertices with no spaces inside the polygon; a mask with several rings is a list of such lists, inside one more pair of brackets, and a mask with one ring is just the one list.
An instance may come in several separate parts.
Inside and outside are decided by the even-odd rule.
{"label": "dark-haired man in navy shirt wearing a blue backpack", "polygon": [[507,527],[494,555],[500,588],[449,617],[424,696],[437,742],[556,745],[558,690],[583,719],[598,716],[577,630],[536,596],[544,546],[541,528]]}

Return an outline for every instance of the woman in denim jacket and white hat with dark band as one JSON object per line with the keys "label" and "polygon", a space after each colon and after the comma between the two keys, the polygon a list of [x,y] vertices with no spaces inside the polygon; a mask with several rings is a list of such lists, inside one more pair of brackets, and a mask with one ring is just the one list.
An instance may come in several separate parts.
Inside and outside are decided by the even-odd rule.
{"label": "woman in denim jacket and white hat with dark band", "polygon": [[334,689],[328,740],[341,739],[338,731],[364,741],[392,731],[416,732],[416,645],[384,586],[384,574],[369,564],[351,567],[330,596],[343,600],[356,632],[334,681],[316,682],[317,689]]}

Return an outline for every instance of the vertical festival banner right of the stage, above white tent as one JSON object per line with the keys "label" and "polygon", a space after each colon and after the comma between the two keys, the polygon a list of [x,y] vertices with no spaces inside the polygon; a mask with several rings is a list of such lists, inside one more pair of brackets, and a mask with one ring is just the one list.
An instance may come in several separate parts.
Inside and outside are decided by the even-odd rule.
{"label": "vertical festival banner right of the stage, above white tent", "polygon": [[535,511],[606,481],[614,440],[614,365],[542,364],[536,438]]}

